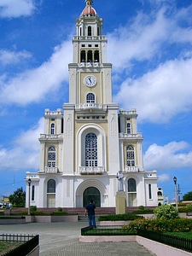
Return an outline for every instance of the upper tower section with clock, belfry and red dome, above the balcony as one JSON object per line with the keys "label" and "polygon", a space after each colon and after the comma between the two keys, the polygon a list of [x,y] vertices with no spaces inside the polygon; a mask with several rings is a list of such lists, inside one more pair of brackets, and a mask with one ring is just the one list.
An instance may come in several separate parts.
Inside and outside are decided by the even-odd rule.
{"label": "upper tower section with clock, belfry and red dome, above the balcony", "polygon": [[[73,37],[73,63],[69,67],[69,102],[87,103],[88,93],[95,103],[112,102],[111,68],[107,62],[108,40],[102,35],[102,19],[86,5],[76,20],[77,35]],[[91,98],[91,101],[93,99]]]}

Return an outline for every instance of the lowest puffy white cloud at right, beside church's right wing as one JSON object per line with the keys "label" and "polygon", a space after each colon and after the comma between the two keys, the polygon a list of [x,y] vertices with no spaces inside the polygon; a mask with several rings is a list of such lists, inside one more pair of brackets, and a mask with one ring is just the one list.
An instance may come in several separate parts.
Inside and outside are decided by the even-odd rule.
{"label": "lowest puffy white cloud at right, beside church's right wing", "polygon": [[192,151],[187,151],[188,148],[189,144],[185,142],[172,142],[164,146],[153,144],[143,156],[144,166],[158,172],[192,166]]}

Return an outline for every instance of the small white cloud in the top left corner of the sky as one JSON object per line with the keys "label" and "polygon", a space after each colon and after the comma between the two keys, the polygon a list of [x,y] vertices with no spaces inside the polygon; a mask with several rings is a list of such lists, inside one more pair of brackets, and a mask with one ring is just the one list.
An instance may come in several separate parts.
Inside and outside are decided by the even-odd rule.
{"label": "small white cloud in the top left corner of the sky", "polygon": [[32,15],[35,9],[33,0],[1,0],[0,17],[17,18]]}

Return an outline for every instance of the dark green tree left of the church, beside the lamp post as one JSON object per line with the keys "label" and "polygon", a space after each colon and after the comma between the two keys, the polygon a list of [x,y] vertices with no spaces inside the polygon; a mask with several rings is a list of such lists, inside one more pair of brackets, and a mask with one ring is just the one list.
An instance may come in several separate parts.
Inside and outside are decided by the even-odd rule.
{"label": "dark green tree left of the church, beside the lamp post", "polygon": [[25,207],[26,191],[23,191],[22,187],[17,189],[13,195],[9,195],[9,201],[14,207]]}

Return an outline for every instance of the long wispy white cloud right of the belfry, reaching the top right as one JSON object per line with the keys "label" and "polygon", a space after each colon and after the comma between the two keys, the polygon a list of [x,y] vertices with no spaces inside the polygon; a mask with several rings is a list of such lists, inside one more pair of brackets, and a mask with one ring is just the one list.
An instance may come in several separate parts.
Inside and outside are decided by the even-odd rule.
{"label": "long wispy white cloud right of the belfry, reaching the top right", "polygon": [[[172,6],[161,7],[150,14],[139,12],[126,26],[120,26],[108,34],[108,59],[113,63],[113,70],[123,73],[134,66],[133,61],[151,61],[163,55],[161,47],[175,43],[192,43],[192,30],[189,26],[180,26],[186,14],[191,17],[192,6],[172,11]],[[172,15],[166,15],[172,12]],[[182,37],[181,37],[182,35]],[[165,47],[166,47],[165,46]]]}

